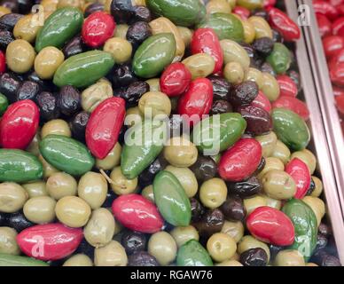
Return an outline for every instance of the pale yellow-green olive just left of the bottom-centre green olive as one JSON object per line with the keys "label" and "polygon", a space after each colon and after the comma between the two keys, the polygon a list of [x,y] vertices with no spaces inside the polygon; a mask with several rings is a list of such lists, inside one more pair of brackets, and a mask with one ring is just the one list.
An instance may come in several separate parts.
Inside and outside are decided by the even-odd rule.
{"label": "pale yellow-green olive just left of the bottom-centre green olive", "polygon": [[161,265],[168,265],[176,258],[176,241],[167,232],[153,233],[148,241],[148,252]]}

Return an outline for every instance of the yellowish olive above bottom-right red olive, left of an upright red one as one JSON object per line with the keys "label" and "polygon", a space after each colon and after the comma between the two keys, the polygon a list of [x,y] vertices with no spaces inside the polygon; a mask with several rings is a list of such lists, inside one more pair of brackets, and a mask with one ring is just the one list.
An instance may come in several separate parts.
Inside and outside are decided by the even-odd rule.
{"label": "yellowish olive above bottom-right red olive, left of an upright red one", "polygon": [[262,189],[269,197],[278,201],[287,200],[296,193],[296,184],[283,170],[269,170],[262,177]]}

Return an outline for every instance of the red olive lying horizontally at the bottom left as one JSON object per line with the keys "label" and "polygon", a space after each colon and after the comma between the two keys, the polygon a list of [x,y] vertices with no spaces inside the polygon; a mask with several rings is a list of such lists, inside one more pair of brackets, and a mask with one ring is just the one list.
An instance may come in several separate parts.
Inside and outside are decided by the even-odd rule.
{"label": "red olive lying horizontally at the bottom left", "polygon": [[82,237],[81,228],[74,229],[54,223],[25,229],[18,234],[17,243],[27,256],[41,260],[58,260],[73,254]]}

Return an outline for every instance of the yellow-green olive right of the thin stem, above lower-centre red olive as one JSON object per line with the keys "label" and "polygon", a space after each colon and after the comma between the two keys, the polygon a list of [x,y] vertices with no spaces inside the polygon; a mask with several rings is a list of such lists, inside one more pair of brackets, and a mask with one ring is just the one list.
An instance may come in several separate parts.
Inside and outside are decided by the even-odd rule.
{"label": "yellow-green olive right of the thin stem, above lower-centre red olive", "polygon": [[113,189],[113,193],[117,195],[129,194],[134,193],[137,189],[137,177],[134,179],[128,179],[124,177],[121,172],[121,167],[116,167],[110,174],[111,188]]}

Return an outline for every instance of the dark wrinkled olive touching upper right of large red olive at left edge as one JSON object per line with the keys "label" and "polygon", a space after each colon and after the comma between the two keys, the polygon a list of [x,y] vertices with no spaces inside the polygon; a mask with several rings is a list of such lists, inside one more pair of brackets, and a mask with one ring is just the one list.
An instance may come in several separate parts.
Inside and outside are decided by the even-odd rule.
{"label": "dark wrinkled olive touching upper right of large red olive at left edge", "polygon": [[42,91],[35,98],[43,121],[50,121],[59,117],[58,99],[49,91]]}

